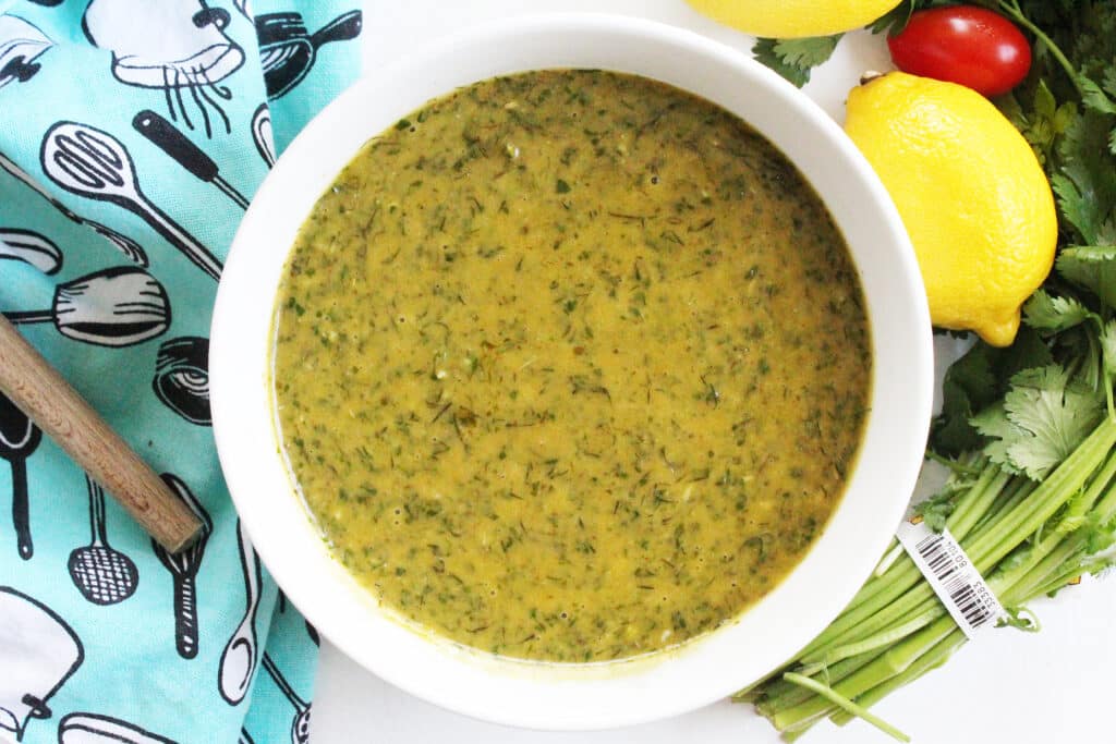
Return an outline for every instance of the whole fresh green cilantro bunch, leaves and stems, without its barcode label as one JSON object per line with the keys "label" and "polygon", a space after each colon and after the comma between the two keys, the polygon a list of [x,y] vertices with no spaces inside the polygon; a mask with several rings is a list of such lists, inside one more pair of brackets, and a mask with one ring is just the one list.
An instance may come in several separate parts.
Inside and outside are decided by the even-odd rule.
{"label": "whole fresh green cilantro bunch, leaves and stems, without its barcode label", "polygon": [[[922,8],[906,0],[870,30],[894,32]],[[949,528],[1008,609],[1037,630],[1027,602],[1113,563],[1116,543],[1116,4],[978,2],[1033,40],[1028,79],[994,103],[1022,132],[1058,206],[1055,269],[1023,306],[1008,348],[977,341],[947,370],[927,457],[951,470],[918,505]],[[760,61],[798,85],[839,37],[761,39]],[[785,738],[860,716],[944,664],[965,636],[915,564],[893,544],[841,615],[796,659],[741,690]]]}

